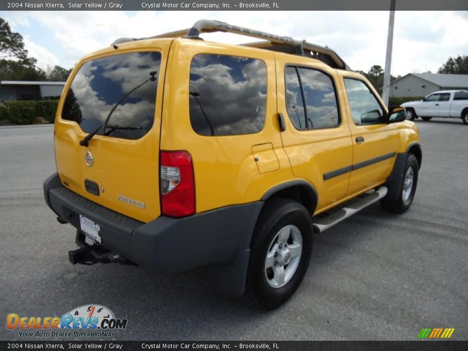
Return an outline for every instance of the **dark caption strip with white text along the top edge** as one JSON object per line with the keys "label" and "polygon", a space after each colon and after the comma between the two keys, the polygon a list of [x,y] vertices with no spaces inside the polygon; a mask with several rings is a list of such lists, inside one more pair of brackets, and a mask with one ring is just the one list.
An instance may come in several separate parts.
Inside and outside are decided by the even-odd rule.
{"label": "dark caption strip with white text along the top edge", "polygon": [[[305,11],[389,10],[390,0],[27,0],[1,1],[1,11]],[[396,0],[396,10],[468,10],[467,0]]]}

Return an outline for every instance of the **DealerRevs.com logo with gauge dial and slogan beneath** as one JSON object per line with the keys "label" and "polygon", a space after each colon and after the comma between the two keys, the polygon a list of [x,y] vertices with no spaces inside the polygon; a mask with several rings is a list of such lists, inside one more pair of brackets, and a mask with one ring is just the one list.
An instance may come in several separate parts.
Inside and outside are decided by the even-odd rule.
{"label": "DealerRevs.com logo with gauge dial and slogan beneath", "polygon": [[6,316],[6,328],[21,337],[113,337],[127,328],[127,319],[118,319],[105,306],[83,305],[61,317]]}

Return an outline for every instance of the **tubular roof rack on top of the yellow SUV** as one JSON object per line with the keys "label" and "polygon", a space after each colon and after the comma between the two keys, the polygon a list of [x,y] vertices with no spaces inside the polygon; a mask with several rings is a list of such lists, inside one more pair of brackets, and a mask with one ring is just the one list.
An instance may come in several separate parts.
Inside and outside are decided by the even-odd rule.
{"label": "tubular roof rack on top of the yellow SUV", "polygon": [[[229,32],[234,34],[240,34],[247,37],[253,37],[258,39],[264,39],[267,41],[248,43],[246,46],[263,48],[267,50],[288,52],[296,55],[306,56],[309,54],[314,59],[319,59],[333,68],[350,70],[350,67],[346,62],[341,59],[338,54],[328,47],[315,45],[305,40],[296,40],[291,37],[278,36],[266,32],[257,31],[254,29],[244,28],[221,22],[217,20],[198,20],[195,22],[192,28],[183,29],[175,32],[164,33],[149,38],[141,39],[155,39],[155,38],[189,38],[189,39],[201,39],[199,35],[201,33],[212,33],[212,32]],[[132,40],[140,39],[129,39],[120,38],[112,43],[113,46]]]}

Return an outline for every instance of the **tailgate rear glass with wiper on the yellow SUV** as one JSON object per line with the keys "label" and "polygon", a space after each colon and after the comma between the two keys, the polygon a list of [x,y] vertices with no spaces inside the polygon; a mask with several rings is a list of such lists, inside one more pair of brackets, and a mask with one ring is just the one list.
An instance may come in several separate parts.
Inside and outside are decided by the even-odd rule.
{"label": "tailgate rear glass with wiper on the yellow SUV", "polygon": [[[68,91],[62,118],[90,133],[111,114],[108,124],[120,129],[101,130],[98,135],[138,139],[153,126],[161,54],[138,52],[85,62]],[[121,129],[126,128],[129,129]]]}

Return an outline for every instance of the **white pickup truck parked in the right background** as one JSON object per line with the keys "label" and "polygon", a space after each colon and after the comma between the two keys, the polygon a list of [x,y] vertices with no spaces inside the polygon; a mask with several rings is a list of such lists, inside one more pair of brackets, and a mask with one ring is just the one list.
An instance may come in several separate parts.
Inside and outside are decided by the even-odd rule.
{"label": "white pickup truck parked in the right background", "polygon": [[406,109],[406,118],[414,120],[421,117],[429,120],[432,117],[461,118],[468,124],[468,91],[443,90],[429,94],[420,101],[409,101],[401,104]]}

